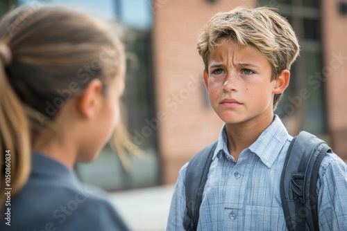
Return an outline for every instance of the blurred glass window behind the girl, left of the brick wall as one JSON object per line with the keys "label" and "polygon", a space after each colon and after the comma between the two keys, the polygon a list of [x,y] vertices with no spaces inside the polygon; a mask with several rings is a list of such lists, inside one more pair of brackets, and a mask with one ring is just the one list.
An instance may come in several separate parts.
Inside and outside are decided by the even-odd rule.
{"label": "blurred glass window behind the girl, left of the brick wall", "polygon": [[[35,1],[35,0],[34,0]],[[33,0],[20,0],[31,4]],[[158,185],[159,160],[156,144],[156,124],[153,90],[151,3],[147,0],[46,0],[36,3],[59,3],[98,15],[105,19],[117,18],[126,26],[126,92],[128,130],[146,156],[130,156],[133,166],[126,171],[119,156],[109,146],[92,163],[76,165],[82,181],[103,187],[105,190],[123,190]]]}

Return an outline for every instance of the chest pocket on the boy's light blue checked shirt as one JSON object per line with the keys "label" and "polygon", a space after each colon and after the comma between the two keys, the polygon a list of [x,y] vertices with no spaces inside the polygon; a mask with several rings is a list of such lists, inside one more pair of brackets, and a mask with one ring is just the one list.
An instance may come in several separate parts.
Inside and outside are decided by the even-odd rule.
{"label": "chest pocket on the boy's light blue checked shirt", "polygon": [[246,205],[245,230],[287,230],[282,207]]}

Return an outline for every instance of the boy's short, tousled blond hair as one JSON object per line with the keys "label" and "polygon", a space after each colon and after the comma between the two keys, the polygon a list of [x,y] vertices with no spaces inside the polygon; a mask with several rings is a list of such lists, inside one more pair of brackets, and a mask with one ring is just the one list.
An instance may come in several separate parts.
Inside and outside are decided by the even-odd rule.
{"label": "boy's short, tousled blond hair", "polygon": [[[237,46],[254,46],[266,56],[271,65],[271,81],[280,73],[290,69],[299,53],[299,44],[293,28],[287,19],[273,8],[237,7],[229,12],[219,12],[204,26],[198,36],[198,53],[208,71],[208,59],[218,46],[219,39],[230,39]],[[273,98],[276,109],[282,93]]]}

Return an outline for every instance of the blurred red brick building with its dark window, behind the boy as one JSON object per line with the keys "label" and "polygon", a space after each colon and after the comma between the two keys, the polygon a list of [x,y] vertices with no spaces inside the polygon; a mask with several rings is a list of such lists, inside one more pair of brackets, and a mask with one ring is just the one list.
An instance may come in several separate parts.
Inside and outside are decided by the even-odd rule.
{"label": "blurred red brick building with its dark window, behind the boy", "polygon": [[[223,122],[206,100],[196,37],[214,13],[236,6],[274,6],[289,19],[302,52],[291,71],[294,86],[278,113],[285,114],[289,133],[311,131],[347,159],[347,15],[339,10],[339,1],[289,2],[153,1],[153,63],[163,183],[174,183],[180,167],[218,138]],[[317,60],[312,61],[312,57]],[[301,95],[303,89],[310,92],[310,98]]]}

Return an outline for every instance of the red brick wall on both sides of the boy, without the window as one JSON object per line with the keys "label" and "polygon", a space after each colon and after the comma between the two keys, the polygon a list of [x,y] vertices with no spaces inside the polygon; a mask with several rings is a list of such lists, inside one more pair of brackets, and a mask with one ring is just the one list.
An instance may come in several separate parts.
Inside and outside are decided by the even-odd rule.
{"label": "red brick wall on both sides of the boy, without the window", "polygon": [[[347,160],[347,16],[339,14],[337,0],[321,2],[328,131],[334,151]],[[206,104],[203,62],[196,50],[198,31],[215,12],[255,3],[153,0],[162,183],[174,183],[180,167],[198,150],[217,140],[223,124]]]}

